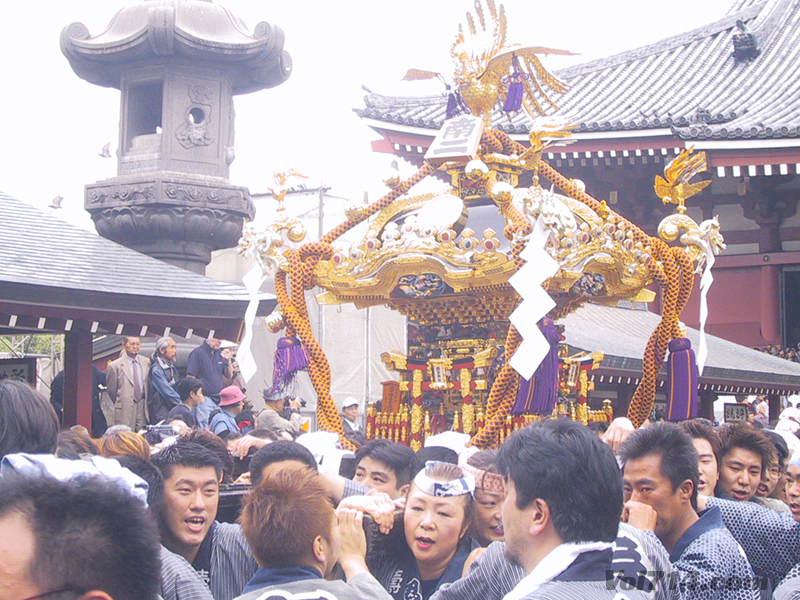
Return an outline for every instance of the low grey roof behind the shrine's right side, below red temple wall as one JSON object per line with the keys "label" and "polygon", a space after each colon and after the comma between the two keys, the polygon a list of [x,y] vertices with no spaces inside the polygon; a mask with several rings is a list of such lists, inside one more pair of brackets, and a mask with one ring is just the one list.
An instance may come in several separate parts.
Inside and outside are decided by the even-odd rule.
{"label": "low grey roof behind the shrine's right side, below red temple wall", "polygon": [[[590,377],[600,383],[638,383],[647,340],[660,316],[648,310],[631,310],[586,303],[559,321],[565,326],[570,354],[599,350],[605,358]],[[700,332],[688,329],[695,353]],[[708,358],[700,390],[728,394],[793,394],[800,392],[800,363],[706,335]],[[659,379],[663,380],[666,367]]]}

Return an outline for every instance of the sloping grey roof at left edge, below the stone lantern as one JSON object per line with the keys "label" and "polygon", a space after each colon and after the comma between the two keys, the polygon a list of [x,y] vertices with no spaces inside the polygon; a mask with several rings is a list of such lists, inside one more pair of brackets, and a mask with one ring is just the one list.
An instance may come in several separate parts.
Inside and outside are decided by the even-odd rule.
{"label": "sloping grey roof at left edge, below the stone lantern", "polygon": [[[151,258],[0,192],[0,330],[238,337],[250,296]],[[275,297],[260,293],[258,314]],[[142,333],[144,331],[144,333]]]}

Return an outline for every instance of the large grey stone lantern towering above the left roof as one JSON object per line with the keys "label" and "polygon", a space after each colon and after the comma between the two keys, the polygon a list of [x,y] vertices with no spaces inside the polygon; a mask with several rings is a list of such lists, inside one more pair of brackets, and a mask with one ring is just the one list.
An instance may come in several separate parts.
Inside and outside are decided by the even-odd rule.
{"label": "large grey stone lantern towering above the left roof", "polygon": [[87,185],[100,235],[203,273],[211,252],[235,246],[255,214],[232,185],[233,96],[286,81],[292,61],[280,28],[253,33],[203,0],[144,0],[92,36],[61,32],[61,50],[86,81],[120,90],[117,176]]}

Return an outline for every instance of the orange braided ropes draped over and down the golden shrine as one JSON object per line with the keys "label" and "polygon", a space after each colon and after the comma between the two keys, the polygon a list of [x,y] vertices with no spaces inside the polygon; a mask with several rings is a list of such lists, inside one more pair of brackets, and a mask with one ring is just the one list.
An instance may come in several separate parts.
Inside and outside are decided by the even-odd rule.
{"label": "orange braided ropes draped over and down the golden shrine", "polygon": [[[484,132],[481,144],[485,150],[491,152],[502,151],[509,155],[521,155],[527,150],[525,146],[511,140],[505,133],[493,130]],[[365,219],[389,206],[434,171],[434,167],[425,164],[411,178],[396,185],[391,192],[367,207],[357,218],[348,218],[340,223],[323,236],[319,242],[304,244],[299,252],[296,250],[287,251],[286,256],[290,259],[291,297],[286,289],[285,274],[279,273],[279,276],[276,277],[278,302],[286,314],[288,328],[290,331],[296,332],[309,351],[309,375],[318,395],[317,415],[319,428],[324,431],[339,433],[343,446],[347,448],[351,448],[351,444],[342,435],[341,418],[330,396],[330,366],[311,331],[304,292],[313,287],[313,272],[319,260],[330,258],[332,253],[331,242]],[[608,210],[595,198],[578,189],[570,180],[558,173],[550,165],[540,162],[539,172],[567,195],[589,206],[593,211]],[[530,230],[530,224],[527,219],[513,206],[504,207],[504,211],[509,220],[509,225],[504,230],[506,238],[513,240],[518,231],[524,231],[524,228],[527,228],[527,231]],[[666,354],[667,345],[671,339],[680,335],[678,318],[691,294],[694,279],[691,274],[691,261],[683,250],[670,248],[662,240],[648,236],[623,217],[619,216],[619,219],[633,232],[635,242],[641,241],[651,246],[654,260],[648,266],[648,269],[653,280],[664,291],[662,321],[648,341],[643,360],[642,380],[631,400],[628,413],[631,421],[638,427],[649,415],[652,408],[656,378]],[[523,264],[523,261],[519,258],[521,250],[522,244],[512,244],[512,256],[517,269]],[[294,256],[295,253],[297,253],[296,256]],[[500,369],[489,393],[484,427],[476,433],[471,442],[478,447],[489,448],[499,443],[500,429],[505,424],[505,418],[513,406],[519,388],[519,375],[509,366],[508,361],[519,347],[521,341],[516,329],[513,326],[509,327],[505,345],[505,364]]]}

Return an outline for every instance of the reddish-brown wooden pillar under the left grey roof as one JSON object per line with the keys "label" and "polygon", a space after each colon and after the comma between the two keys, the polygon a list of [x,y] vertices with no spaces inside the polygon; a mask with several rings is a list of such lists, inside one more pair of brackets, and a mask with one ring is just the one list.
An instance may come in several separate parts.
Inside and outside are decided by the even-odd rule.
{"label": "reddish-brown wooden pillar under the left grey roof", "polygon": [[64,335],[64,427],[92,430],[92,334],[73,329]]}

